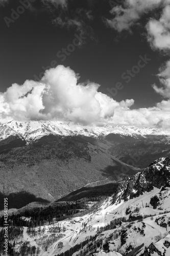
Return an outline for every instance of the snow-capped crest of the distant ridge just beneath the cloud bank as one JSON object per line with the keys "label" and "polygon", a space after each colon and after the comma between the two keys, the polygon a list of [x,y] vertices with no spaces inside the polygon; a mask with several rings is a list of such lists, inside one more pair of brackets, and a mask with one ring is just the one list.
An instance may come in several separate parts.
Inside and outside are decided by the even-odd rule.
{"label": "snow-capped crest of the distant ridge just beneath the cloud bank", "polygon": [[170,135],[169,131],[156,128],[141,128],[134,126],[113,126],[109,124],[83,126],[72,122],[63,121],[10,121],[0,122],[0,140],[6,139],[11,135],[18,135],[27,142],[39,139],[45,135],[83,135],[98,138],[108,134],[119,134],[120,136],[147,136],[147,135]]}

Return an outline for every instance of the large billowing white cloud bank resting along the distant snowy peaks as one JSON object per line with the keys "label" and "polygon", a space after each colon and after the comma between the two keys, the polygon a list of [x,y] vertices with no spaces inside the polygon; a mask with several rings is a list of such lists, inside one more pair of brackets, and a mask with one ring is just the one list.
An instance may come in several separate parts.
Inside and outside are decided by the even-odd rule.
{"label": "large billowing white cloud bank resting along the distant snowy peaks", "polygon": [[79,83],[79,76],[62,65],[46,70],[39,82],[26,80],[0,93],[0,117],[14,120],[65,120],[84,125],[98,122],[158,125],[167,128],[170,100],[154,108],[130,109],[133,99],[115,101],[99,92],[94,82]]}

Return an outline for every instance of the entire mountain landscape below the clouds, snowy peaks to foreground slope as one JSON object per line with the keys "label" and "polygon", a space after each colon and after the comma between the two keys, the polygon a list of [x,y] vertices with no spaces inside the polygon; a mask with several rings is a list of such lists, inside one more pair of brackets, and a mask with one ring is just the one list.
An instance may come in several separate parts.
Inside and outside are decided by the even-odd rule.
{"label": "entire mountain landscape below the clouds, snowy peaks to foreground slope", "polygon": [[57,127],[1,123],[9,255],[168,256],[168,132]]}

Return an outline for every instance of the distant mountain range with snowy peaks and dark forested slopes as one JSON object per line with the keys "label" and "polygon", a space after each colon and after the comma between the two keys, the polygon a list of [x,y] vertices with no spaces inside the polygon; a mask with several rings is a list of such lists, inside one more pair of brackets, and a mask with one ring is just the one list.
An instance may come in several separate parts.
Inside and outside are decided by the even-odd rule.
{"label": "distant mountain range with snowy peaks and dark forested slopes", "polygon": [[14,207],[18,196],[24,206],[115,183],[170,153],[168,131],[157,128],[10,121],[0,134],[0,191],[16,199]]}

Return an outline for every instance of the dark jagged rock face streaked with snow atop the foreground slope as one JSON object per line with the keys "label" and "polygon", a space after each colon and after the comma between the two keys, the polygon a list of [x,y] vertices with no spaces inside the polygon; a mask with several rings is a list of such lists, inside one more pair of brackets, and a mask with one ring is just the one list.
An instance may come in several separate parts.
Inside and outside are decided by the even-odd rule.
{"label": "dark jagged rock face streaked with snow atop the foreground slope", "polygon": [[[126,178],[118,187],[117,194],[113,196],[113,202],[129,200],[151,191],[154,187],[169,187],[170,181],[170,158],[159,158],[134,176]],[[159,200],[159,199],[158,199]],[[153,198],[151,204],[158,204]]]}

